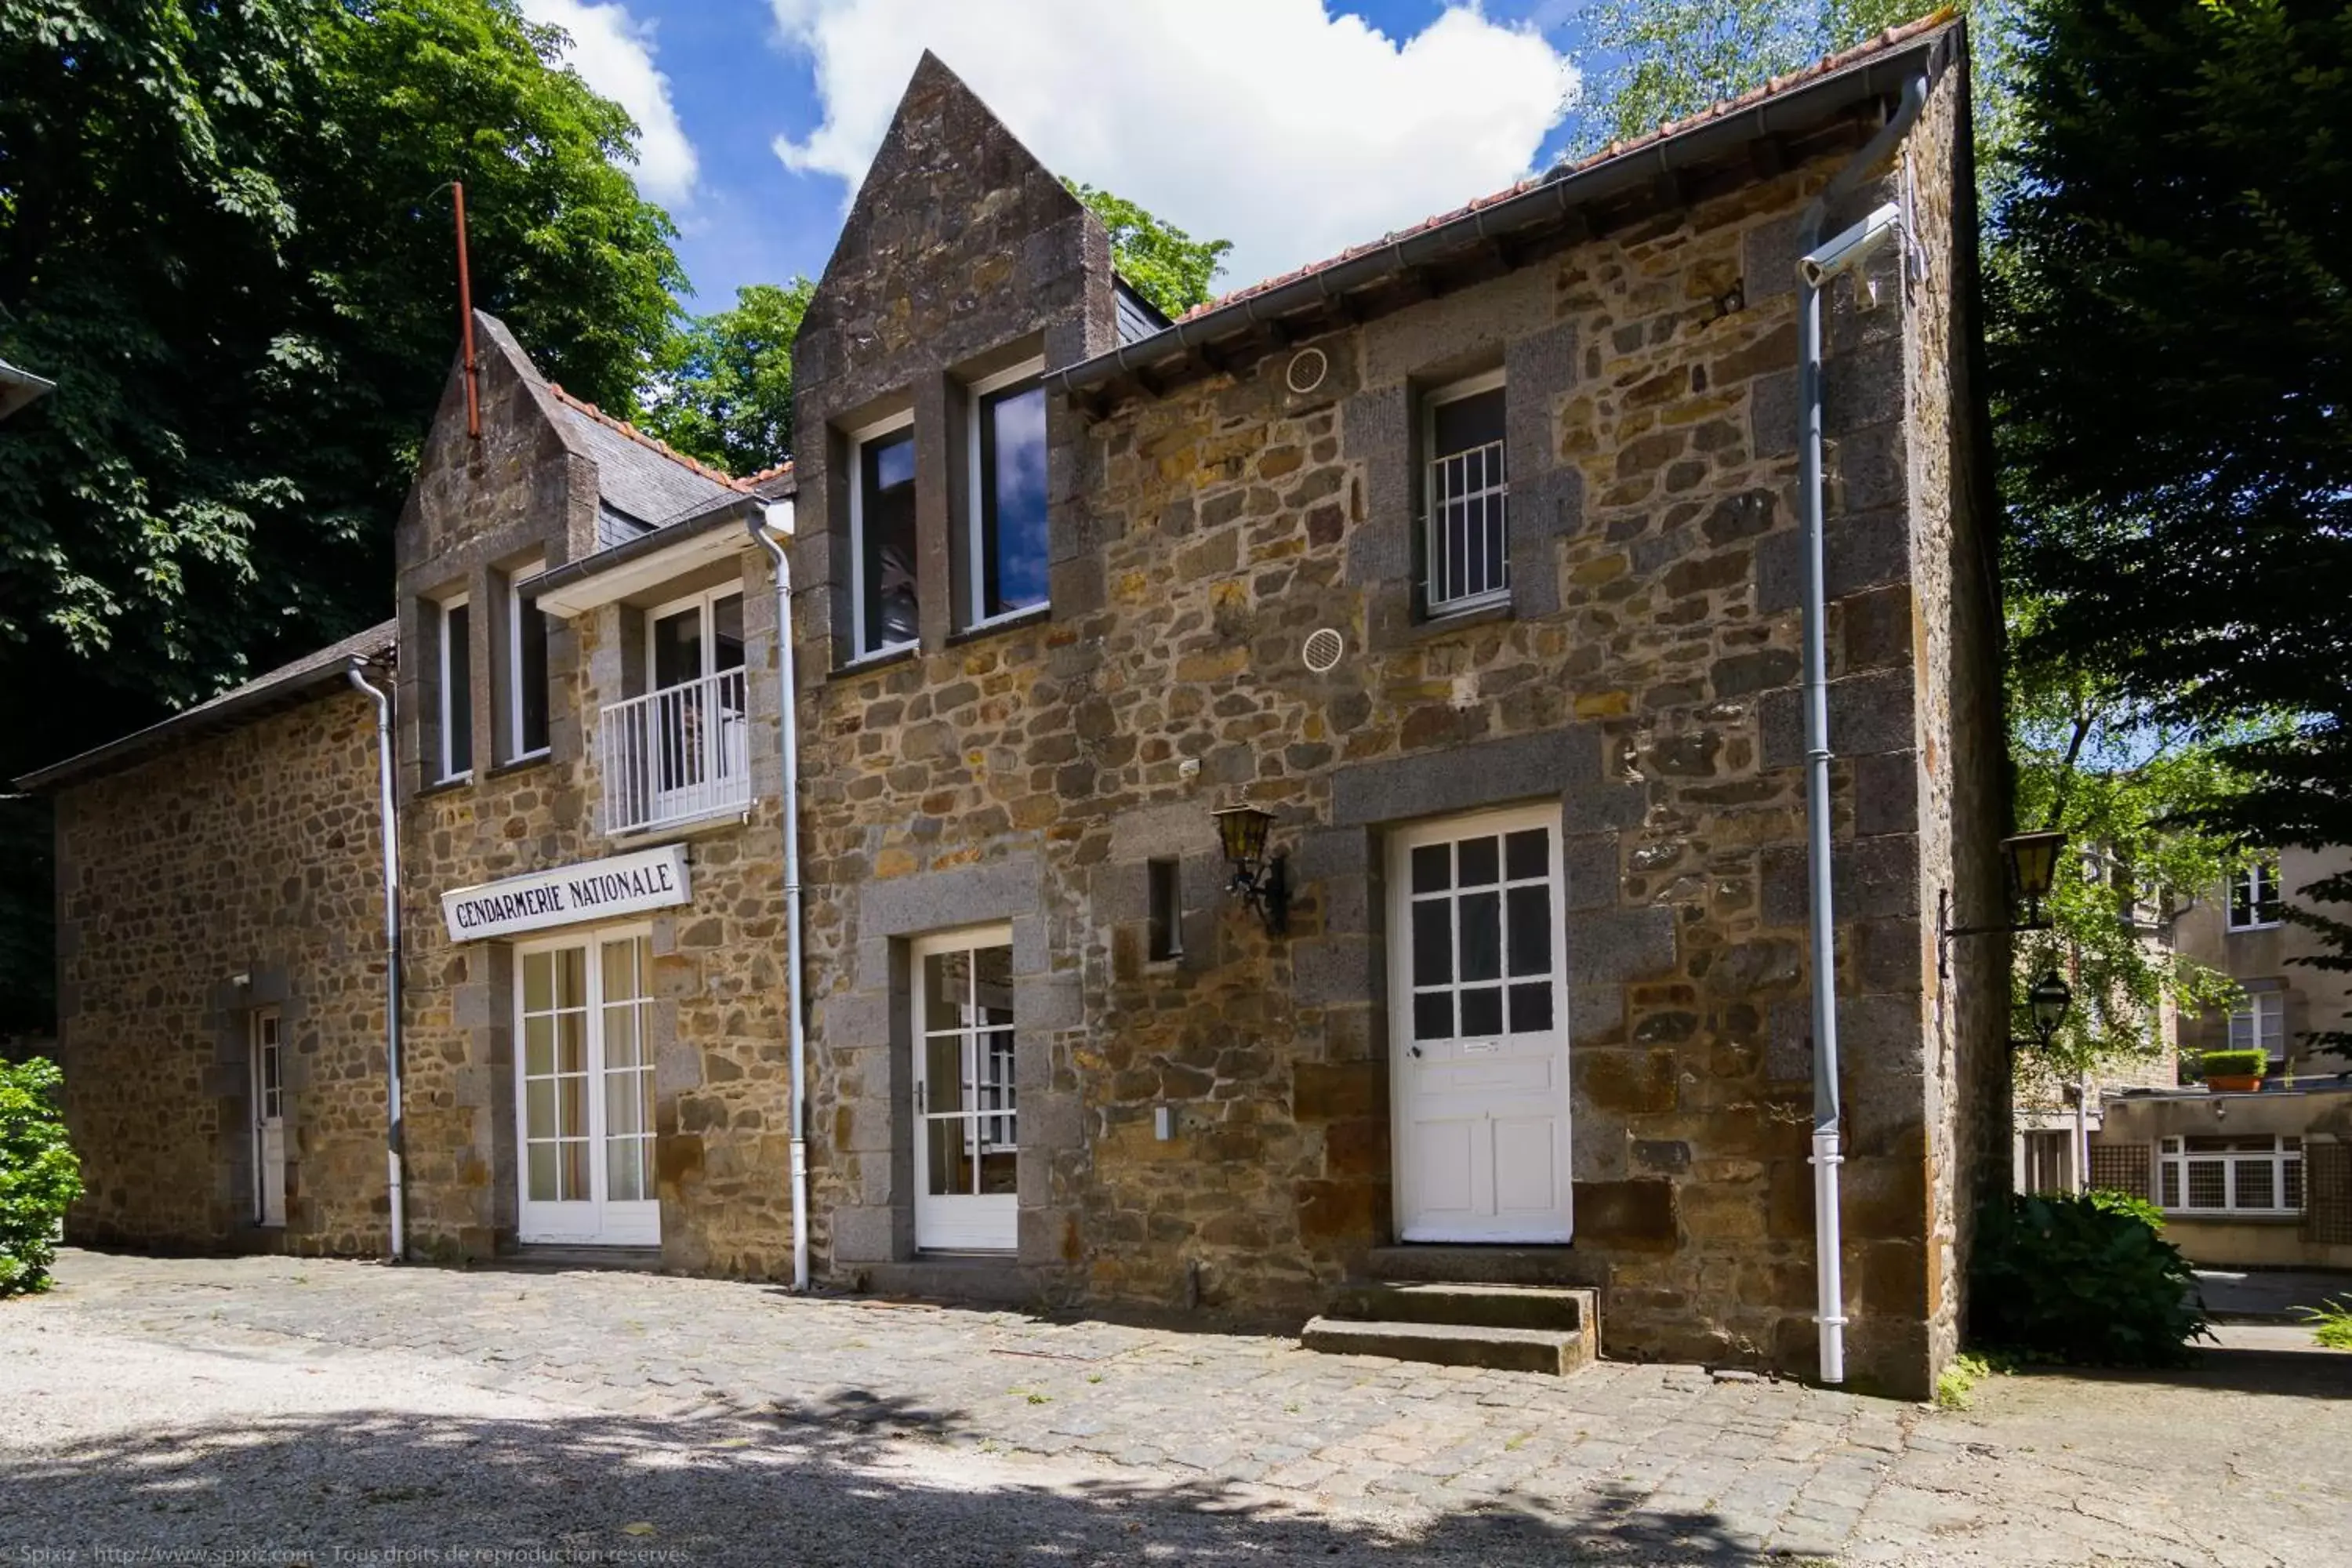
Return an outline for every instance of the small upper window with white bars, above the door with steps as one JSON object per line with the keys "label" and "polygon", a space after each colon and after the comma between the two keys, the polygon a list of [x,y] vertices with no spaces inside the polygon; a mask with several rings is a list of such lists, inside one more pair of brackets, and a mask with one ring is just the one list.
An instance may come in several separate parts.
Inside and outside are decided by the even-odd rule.
{"label": "small upper window with white bars, above the door with steps", "polygon": [[1423,607],[1432,616],[1510,599],[1503,527],[1503,371],[1437,388],[1421,404]]}

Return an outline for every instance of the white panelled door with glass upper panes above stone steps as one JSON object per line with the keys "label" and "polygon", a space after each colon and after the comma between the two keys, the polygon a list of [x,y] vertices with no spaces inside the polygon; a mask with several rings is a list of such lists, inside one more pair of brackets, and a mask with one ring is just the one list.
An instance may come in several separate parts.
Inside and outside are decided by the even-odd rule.
{"label": "white panelled door with glass upper panes above stone steps", "polygon": [[1569,1239],[1559,806],[1390,839],[1397,1234]]}

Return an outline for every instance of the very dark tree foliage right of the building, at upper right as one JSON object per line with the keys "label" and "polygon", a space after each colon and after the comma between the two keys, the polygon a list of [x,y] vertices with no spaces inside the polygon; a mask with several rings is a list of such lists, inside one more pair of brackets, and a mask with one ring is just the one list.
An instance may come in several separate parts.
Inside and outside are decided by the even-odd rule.
{"label": "very dark tree foliage right of the building, at upper right", "polygon": [[2352,844],[2352,9],[2037,0],[2020,63],[1990,357],[2025,654],[2230,736],[2209,825]]}

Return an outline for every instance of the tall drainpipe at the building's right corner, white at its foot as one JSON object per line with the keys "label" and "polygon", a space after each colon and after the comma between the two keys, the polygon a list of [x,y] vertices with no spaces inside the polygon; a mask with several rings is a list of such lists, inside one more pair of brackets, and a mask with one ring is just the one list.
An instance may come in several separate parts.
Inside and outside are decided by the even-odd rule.
{"label": "tall drainpipe at the building's right corner, white at its foot", "polygon": [[1863,261],[1900,226],[1900,209],[1879,207],[1820,244],[1820,223],[1882,160],[1926,106],[1926,75],[1903,82],[1903,103],[1823,186],[1797,219],[1797,503],[1804,508],[1804,825],[1813,919],[1813,1321],[1820,1328],[1820,1380],[1846,1380],[1846,1291],[1839,1272],[1844,1237],[1837,1213],[1837,924],[1830,910],[1830,661],[1823,639],[1828,574],[1820,527],[1820,289]]}

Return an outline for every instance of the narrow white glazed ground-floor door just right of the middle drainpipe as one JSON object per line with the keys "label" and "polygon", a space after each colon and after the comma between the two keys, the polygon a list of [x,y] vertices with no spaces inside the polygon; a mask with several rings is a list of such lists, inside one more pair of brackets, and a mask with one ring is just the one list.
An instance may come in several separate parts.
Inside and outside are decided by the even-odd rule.
{"label": "narrow white glazed ground-floor door just right of the middle drainpipe", "polygon": [[915,1246],[1014,1251],[1011,929],[915,943]]}

